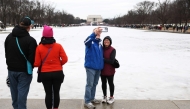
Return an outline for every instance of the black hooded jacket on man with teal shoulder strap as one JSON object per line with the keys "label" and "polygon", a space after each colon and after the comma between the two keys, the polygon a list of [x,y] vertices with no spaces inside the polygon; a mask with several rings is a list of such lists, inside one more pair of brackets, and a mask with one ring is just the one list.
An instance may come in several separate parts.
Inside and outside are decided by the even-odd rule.
{"label": "black hooded jacket on man with teal shoulder strap", "polygon": [[26,29],[21,28],[20,26],[15,26],[12,33],[10,33],[5,39],[5,57],[8,70],[27,72],[26,59],[18,48],[16,37],[18,37],[18,42],[22,52],[32,65],[34,65],[37,42],[30,36]]}

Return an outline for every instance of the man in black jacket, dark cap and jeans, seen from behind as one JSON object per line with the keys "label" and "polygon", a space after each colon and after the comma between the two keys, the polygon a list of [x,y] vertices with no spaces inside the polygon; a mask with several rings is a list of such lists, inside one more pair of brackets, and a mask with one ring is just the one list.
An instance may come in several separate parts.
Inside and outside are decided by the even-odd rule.
{"label": "man in black jacket, dark cap and jeans, seen from behind", "polygon": [[5,58],[10,80],[10,91],[12,97],[12,106],[14,109],[26,109],[27,95],[32,81],[32,75],[27,72],[26,59],[21,54],[16,43],[18,43],[27,60],[34,64],[35,51],[37,47],[36,40],[28,33],[31,27],[31,19],[24,17],[20,24],[15,26],[5,39]]}

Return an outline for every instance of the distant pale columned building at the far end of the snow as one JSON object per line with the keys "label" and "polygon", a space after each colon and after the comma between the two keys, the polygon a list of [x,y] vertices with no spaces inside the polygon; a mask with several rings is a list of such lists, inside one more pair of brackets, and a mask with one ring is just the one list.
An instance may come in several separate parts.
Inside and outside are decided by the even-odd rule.
{"label": "distant pale columned building at the far end of the snow", "polygon": [[89,15],[87,17],[87,24],[91,24],[91,25],[98,25],[100,23],[102,23],[103,19],[101,15]]}

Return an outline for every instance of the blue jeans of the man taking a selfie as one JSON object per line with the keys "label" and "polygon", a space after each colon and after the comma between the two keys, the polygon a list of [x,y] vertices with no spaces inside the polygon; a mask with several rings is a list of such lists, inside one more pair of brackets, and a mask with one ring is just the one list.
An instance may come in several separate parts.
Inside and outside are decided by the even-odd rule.
{"label": "blue jeans of the man taking a selfie", "polygon": [[94,100],[96,93],[96,86],[98,84],[98,80],[100,78],[101,70],[94,70],[86,68],[86,89],[85,89],[85,103],[90,103]]}

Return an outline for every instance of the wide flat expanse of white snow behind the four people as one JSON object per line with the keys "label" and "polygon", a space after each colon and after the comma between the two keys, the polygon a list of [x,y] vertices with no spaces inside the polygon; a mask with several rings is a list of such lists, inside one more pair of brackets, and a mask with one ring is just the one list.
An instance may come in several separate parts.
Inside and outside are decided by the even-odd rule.
{"label": "wide flat expanse of white snow behind the four people", "polygon": [[[54,28],[54,37],[61,43],[69,61],[63,66],[65,80],[60,90],[61,99],[83,99],[86,72],[83,41],[94,27]],[[8,31],[10,31],[9,29]],[[42,29],[30,31],[39,43]],[[0,34],[0,99],[10,98],[6,86],[7,69],[4,40],[8,33]],[[187,100],[190,99],[190,35],[152,32],[109,27],[102,38],[111,36],[116,58],[121,67],[114,78],[115,98],[132,100]],[[37,83],[36,68],[28,98],[44,99],[45,92]],[[109,87],[108,87],[109,88]],[[109,92],[108,92],[109,94]],[[96,97],[102,97],[101,80]]]}

